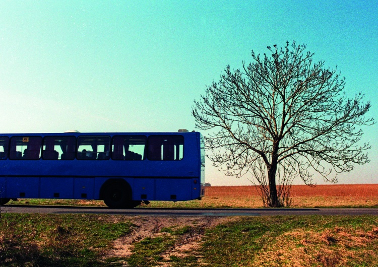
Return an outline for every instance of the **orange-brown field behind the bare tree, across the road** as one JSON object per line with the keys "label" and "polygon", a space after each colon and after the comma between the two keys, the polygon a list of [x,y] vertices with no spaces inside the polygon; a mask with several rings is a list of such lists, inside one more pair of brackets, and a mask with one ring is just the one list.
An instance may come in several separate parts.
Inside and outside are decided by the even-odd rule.
{"label": "orange-brown field behind the bare tree, across the road", "polygon": [[[256,186],[210,186],[203,207],[262,208]],[[293,185],[292,208],[378,208],[378,184]]]}

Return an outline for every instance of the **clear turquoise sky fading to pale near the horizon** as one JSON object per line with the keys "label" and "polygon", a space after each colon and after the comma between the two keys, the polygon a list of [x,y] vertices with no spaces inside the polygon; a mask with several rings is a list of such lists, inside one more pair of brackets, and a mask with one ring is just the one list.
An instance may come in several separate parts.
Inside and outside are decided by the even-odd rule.
{"label": "clear turquoise sky fading to pale near the horizon", "polygon": [[[3,0],[0,131],[196,130],[193,101],[226,65],[287,40],[337,66],[377,119],[378,1]],[[371,162],[339,183],[378,183],[378,127],[363,129]],[[250,184],[210,165],[212,185]]]}

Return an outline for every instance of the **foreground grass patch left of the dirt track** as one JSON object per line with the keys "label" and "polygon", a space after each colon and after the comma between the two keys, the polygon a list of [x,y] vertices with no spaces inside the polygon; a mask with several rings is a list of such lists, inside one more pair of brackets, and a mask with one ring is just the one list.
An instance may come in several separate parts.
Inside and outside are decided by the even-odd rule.
{"label": "foreground grass patch left of the dirt track", "polygon": [[3,214],[1,266],[117,266],[101,257],[113,240],[131,232],[133,224],[112,218]]}

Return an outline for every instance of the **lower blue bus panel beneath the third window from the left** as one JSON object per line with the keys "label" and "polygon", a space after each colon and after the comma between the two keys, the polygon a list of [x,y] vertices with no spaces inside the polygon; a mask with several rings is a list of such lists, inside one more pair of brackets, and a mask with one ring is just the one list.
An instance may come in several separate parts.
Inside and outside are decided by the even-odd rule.
{"label": "lower blue bus panel beneath the third window from the left", "polygon": [[40,198],[73,198],[74,178],[41,177]]}

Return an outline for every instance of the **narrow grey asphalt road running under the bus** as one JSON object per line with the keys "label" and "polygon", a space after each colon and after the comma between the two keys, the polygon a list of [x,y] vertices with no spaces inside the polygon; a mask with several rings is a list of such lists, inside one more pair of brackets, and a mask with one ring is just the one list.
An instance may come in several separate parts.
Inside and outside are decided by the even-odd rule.
{"label": "narrow grey asphalt road running under the bus", "polygon": [[106,207],[24,206],[1,207],[4,213],[112,214],[128,216],[202,217],[202,216],[274,216],[274,215],[378,215],[378,209],[165,209],[135,208],[114,210]]}

